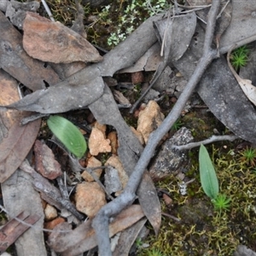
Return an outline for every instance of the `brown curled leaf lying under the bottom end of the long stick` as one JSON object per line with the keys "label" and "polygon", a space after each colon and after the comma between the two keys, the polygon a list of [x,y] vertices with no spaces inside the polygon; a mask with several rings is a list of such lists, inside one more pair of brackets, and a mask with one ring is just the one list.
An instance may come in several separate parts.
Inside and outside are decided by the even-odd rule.
{"label": "brown curled leaf lying under the bottom end of the long stick", "polygon": [[[127,229],[132,224],[143,218],[144,213],[139,205],[132,205],[120,212],[109,224],[109,236]],[[67,224],[65,224],[65,227]],[[58,226],[56,227],[58,228]],[[93,247],[96,247],[96,233],[91,227],[91,220],[80,224],[75,230],[68,233],[51,233],[49,236],[49,247],[61,255],[79,255]]]}

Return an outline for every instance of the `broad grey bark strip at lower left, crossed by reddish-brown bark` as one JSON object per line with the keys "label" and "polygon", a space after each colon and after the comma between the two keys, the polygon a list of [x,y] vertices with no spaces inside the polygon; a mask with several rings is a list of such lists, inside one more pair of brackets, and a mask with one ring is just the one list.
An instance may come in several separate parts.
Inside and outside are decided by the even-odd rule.
{"label": "broad grey bark strip at lower left, crossed by reddish-brown bark", "polygon": [[[15,247],[19,256],[42,255],[46,256],[44,244],[44,210],[41,198],[32,187],[32,177],[26,172],[18,169],[7,181],[1,184],[3,202],[6,210],[15,216],[19,212],[27,211],[30,214],[37,214],[41,218],[34,229],[27,230],[15,241]],[[29,200],[27,200],[29,198]]]}

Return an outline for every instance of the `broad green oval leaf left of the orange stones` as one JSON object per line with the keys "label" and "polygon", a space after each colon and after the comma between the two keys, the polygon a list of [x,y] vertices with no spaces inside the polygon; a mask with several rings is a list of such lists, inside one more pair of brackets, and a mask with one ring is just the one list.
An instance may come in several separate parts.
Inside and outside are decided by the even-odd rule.
{"label": "broad green oval leaf left of the orange stones", "polygon": [[84,155],[87,145],[77,126],[58,115],[50,116],[47,125],[69,152],[79,159]]}

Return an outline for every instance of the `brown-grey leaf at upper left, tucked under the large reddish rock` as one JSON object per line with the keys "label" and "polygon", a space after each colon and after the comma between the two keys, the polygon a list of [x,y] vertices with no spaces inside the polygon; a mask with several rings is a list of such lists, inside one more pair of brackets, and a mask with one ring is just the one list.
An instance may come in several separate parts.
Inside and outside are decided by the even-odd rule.
{"label": "brown-grey leaf at upper left, tucked under the large reddish rock", "polygon": [[44,62],[32,59],[22,47],[20,32],[0,11],[0,67],[31,90],[39,90],[60,81]]}

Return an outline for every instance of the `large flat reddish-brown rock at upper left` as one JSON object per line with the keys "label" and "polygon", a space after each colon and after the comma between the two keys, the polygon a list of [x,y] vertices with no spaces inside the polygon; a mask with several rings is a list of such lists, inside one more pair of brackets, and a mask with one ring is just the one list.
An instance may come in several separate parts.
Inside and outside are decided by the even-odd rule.
{"label": "large flat reddish-brown rock at upper left", "polygon": [[102,61],[102,56],[85,38],[60,22],[27,12],[23,30],[23,47],[28,55],[38,60],[54,63]]}

